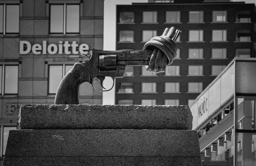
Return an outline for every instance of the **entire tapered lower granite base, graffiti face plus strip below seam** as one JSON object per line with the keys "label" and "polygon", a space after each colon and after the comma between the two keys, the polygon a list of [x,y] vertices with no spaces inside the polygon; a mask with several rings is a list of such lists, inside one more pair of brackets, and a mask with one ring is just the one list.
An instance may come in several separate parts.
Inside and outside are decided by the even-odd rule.
{"label": "entire tapered lower granite base, graffiti face plus strip below seam", "polygon": [[[56,136],[58,137],[56,137]],[[196,130],[10,130],[3,165],[201,165]]]}

